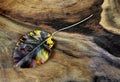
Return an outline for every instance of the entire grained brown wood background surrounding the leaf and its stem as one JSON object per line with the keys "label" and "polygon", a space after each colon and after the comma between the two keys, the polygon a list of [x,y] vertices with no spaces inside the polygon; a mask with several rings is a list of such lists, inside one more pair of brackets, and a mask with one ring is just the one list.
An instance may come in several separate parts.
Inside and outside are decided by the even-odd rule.
{"label": "entire grained brown wood background surrounding the leaf and its stem", "polygon": [[[107,1],[112,0],[104,4]],[[119,7],[119,0],[115,1]],[[102,3],[103,0],[0,0],[0,81],[120,82],[120,36],[107,29],[118,28],[119,20],[115,19],[117,27],[109,24]],[[56,45],[48,62],[36,68],[14,67],[12,55],[22,35],[34,29],[52,33],[90,14],[94,14],[90,20],[54,36]]]}

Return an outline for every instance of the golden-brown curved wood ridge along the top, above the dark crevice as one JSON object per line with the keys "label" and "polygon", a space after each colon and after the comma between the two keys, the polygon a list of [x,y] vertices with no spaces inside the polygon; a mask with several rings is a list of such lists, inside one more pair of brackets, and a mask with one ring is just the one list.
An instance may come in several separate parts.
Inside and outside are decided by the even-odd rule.
{"label": "golden-brown curved wood ridge along the top, above the dark crevice", "polygon": [[2,0],[0,9],[2,14],[10,18],[40,25],[58,19],[70,22],[80,20],[84,13],[89,15],[93,12],[92,5],[96,2],[97,0]]}

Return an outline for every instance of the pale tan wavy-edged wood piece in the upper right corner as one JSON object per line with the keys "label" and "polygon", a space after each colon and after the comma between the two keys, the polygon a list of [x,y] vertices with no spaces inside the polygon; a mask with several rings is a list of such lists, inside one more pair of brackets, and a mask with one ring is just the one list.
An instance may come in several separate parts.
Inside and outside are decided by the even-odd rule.
{"label": "pale tan wavy-edged wood piece in the upper right corner", "polygon": [[120,1],[105,0],[102,8],[103,12],[100,24],[103,25],[106,30],[120,34]]}

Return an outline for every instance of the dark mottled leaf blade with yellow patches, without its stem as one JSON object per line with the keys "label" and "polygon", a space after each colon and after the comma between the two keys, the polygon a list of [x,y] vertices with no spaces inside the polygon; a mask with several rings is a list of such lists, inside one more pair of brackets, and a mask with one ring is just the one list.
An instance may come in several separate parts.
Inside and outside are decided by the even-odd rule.
{"label": "dark mottled leaf blade with yellow patches, without its stem", "polygon": [[46,62],[54,42],[49,33],[34,30],[24,35],[16,44],[14,62],[19,67],[33,67]]}

